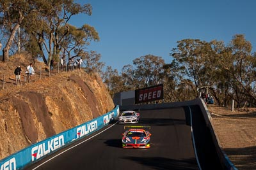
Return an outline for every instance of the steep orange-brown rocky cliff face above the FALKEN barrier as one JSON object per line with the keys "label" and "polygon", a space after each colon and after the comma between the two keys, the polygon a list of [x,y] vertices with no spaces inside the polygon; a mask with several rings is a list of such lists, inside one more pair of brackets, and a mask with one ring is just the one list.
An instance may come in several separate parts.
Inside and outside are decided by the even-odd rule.
{"label": "steep orange-brown rocky cliff face above the FALKEN barrier", "polygon": [[0,159],[114,108],[95,74],[62,72],[0,90]]}

